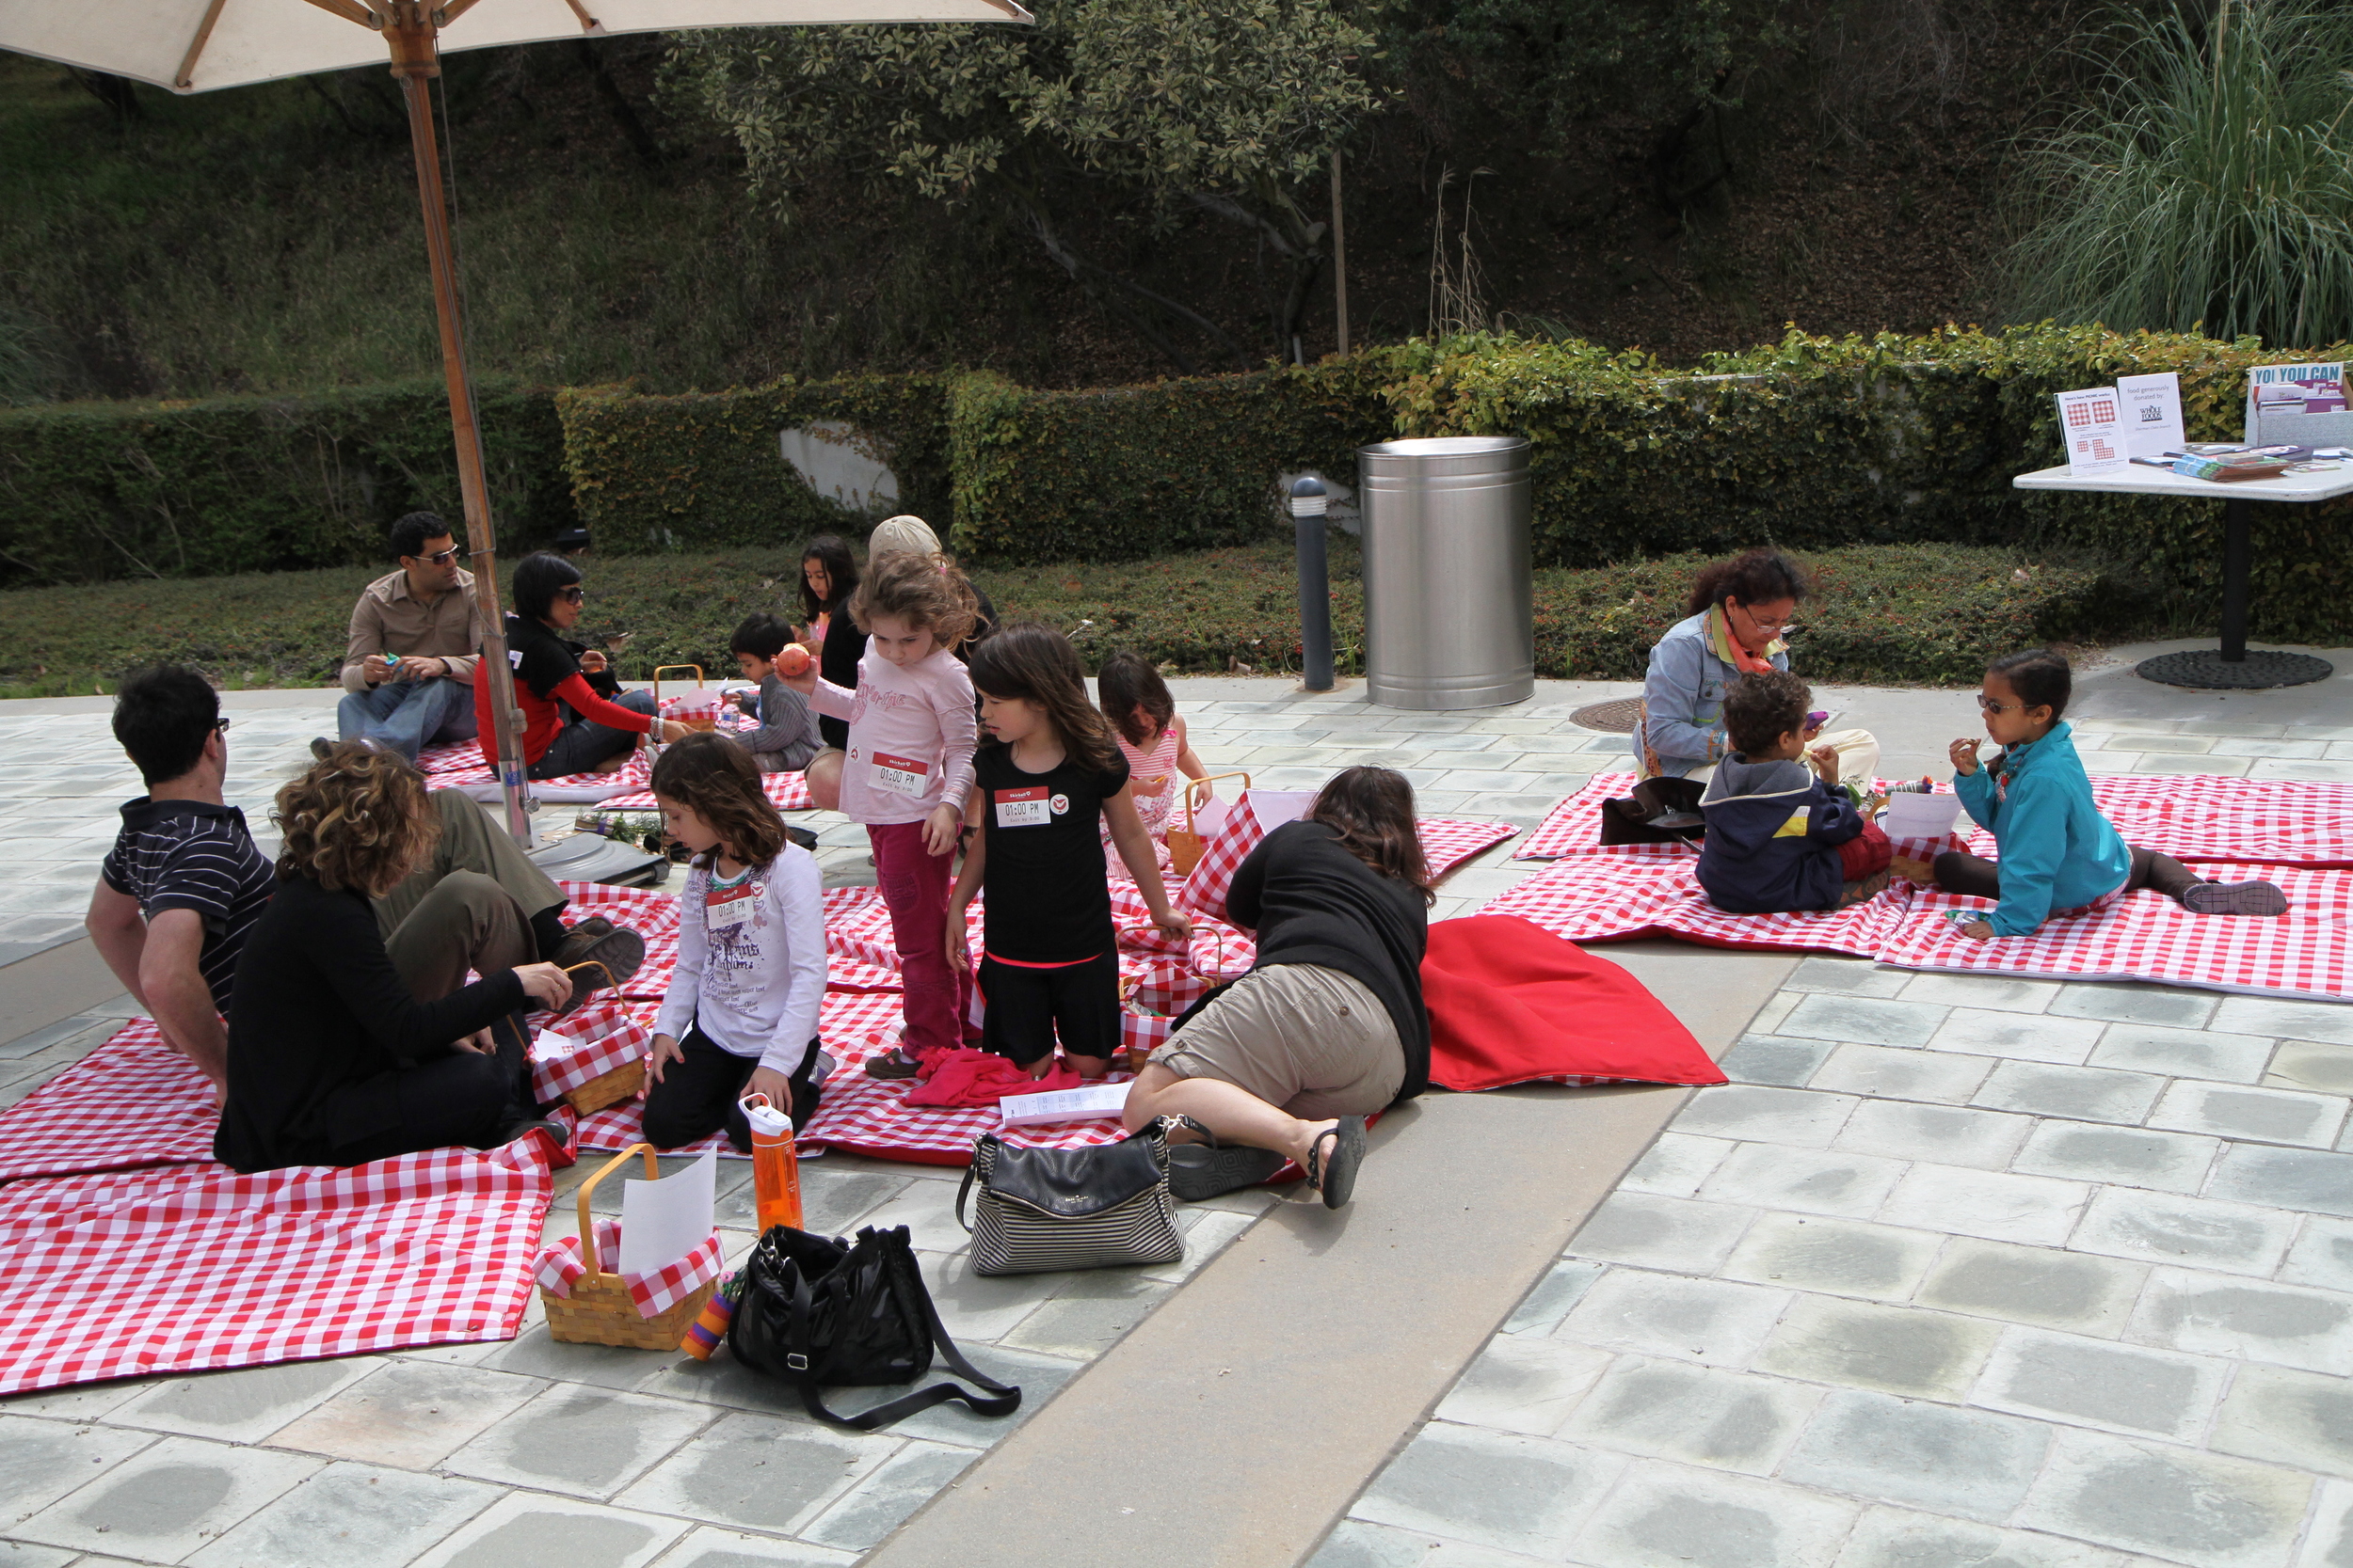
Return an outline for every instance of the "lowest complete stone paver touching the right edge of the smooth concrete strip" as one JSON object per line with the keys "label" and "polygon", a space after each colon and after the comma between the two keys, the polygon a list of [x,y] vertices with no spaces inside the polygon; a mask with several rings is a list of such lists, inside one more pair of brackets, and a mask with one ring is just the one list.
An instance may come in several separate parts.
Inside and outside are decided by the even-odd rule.
{"label": "lowest complete stone paver touching the right edge of the smooth concrete strip", "polygon": [[1431,1422],[1348,1514],[1560,1561],[1624,1469],[1614,1453]]}

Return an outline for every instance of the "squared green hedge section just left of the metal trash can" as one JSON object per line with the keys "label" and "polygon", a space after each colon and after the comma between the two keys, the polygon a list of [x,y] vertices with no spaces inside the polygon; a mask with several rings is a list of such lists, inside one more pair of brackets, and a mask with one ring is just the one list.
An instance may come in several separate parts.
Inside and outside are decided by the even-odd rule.
{"label": "squared green hedge section just left of the metal trash can", "polygon": [[1388,428],[1381,360],[1087,393],[967,376],[948,402],[955,550],[976,562],[1136,559],[1261,538],[1275,480],[1355,484]]}

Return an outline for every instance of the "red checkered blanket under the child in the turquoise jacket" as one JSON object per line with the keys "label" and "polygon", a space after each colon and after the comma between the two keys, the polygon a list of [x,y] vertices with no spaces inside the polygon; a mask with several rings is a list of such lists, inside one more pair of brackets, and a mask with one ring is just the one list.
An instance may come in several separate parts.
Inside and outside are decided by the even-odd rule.
{"label": "red checkered blanket under the child in the turquoise jacket", "polygon": [[1946,914],[1984,914],[1988,900],[1920,891],[1878,959],[1899,969],[2153,980],[2329,1001],[2353,992],[2353,872],[2228,863],[2205,863],[2198,872],[2217,882],[2275,882],[2287,893],[2287,914],[2191,914],[2144,889],[2094,914],[2054,917],[2033,936],[1972,940]]}

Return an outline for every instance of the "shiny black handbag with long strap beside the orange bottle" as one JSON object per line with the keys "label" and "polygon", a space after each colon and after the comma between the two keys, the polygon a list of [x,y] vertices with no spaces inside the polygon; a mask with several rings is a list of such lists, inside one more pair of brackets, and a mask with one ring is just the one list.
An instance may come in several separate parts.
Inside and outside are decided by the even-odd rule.
{"label": "shiny black handbag with long strap beside the orange bottle", "polygon": [[[934,1382],[859,1415],[828,1410],[819,1394],[826,1385],[913,1382],[932,1371],[934,1347],[955,1373],[988,1394]],[[972,1366],[941,1328],[906,1225],[868,1225],[854,1244],[772,1227],[744,1267],[744,1295],[727,1319],[727,1349],[744,1366],[798,1385],[800,1403],[816,1420],[859,1432],[887,1427],[948,1399],[960,1399],[974,1415],[1012,1415],[1021,1408],[1021,1389]]]}

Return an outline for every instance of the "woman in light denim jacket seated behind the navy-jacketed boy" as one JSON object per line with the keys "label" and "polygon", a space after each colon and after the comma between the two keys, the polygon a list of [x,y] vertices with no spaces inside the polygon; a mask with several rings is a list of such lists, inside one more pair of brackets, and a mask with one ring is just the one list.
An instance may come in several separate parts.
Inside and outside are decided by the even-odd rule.
{"label": "woman in light denim jacket seated behind the navy-jacketed boy", "polygon": [[[1779,550],[1748,550],[1699,574],[1685,618],[1649,651],[1642,717],[1633,729],[1642,778],[1699,780],[1715,773],[1732,750],[1725,686],[1744,672],[1788,670],[1784,635],[1805,595],[1805,569]],[[1840,778],[1868,788],[1880,771],[1880,743],[1866,729],[1821,733],[1819,724],[1809,724],[1805,741],[1838,752]]]}

